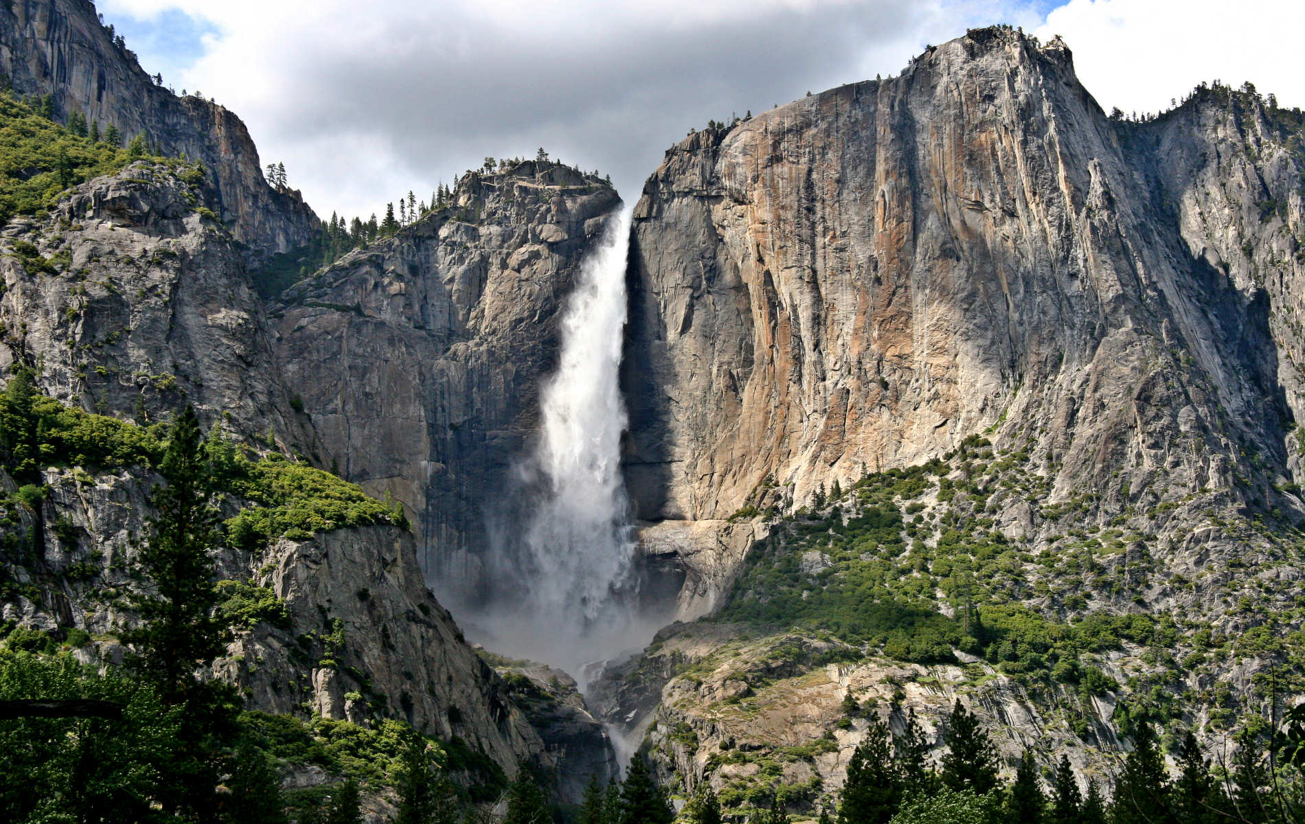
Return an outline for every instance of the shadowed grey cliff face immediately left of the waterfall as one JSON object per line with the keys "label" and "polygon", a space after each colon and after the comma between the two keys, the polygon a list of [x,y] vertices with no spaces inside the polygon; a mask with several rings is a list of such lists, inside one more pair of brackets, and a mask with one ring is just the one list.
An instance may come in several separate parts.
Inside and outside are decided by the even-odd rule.
{"label": "shadowed grey cliff face immediately left of the waterfall", "polygon": [[[478,552],[557,360],[557,310],[619,205],[596,177],[522,163],[286,292],[277,357],[341,472],[415,512],[441,598]],[[457,611],[457,609],[455,609]]]}

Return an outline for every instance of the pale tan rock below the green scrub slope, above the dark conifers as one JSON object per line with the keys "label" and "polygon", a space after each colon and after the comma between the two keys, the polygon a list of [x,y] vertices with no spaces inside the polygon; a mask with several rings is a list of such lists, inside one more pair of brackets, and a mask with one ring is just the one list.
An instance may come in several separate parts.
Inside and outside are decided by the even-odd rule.
{"label": "pale tan rock below the green scrub slope, above the dark conifers", "polygon": [[[658,634],[638,661],[613,668],[591,700],[604,717],[642,718],[642,746],[663,781],[692,793],[710,784],[727,806],[749,787],[786,787],[788,804],[812,811],[837,803],[847,764],[870,720],[900,735],[914,717],[941,758],[942,729],[960,700],[989,730],[1006,780],[1024,750],[1052,768],[1060,754],[1083,789],[1109,786],[1122,750],[1114,692],[1091,698],[1071,728],[1061,712],[1071,690],[1039,695],[984,664],[900,664],[850,652],[805,635],[757,636],[731,625],[684,625]],[[1112,671],[1137,670],[1120,655]],[[1084,746],[1083,738],[1092,746]]]}

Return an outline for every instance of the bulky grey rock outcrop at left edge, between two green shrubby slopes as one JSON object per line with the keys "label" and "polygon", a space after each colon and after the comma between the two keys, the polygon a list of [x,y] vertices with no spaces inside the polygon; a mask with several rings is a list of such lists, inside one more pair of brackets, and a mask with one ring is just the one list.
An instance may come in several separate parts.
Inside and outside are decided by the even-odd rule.
{"label": "bulky grey rock outcrop at left edge, between two green shrubby slopes", "polygon": [[46,394],[104,415],[146,424],[191,403],[206,425],[312,452],[207,180],[138,162],[4,227],[0,368],[34,366]]}

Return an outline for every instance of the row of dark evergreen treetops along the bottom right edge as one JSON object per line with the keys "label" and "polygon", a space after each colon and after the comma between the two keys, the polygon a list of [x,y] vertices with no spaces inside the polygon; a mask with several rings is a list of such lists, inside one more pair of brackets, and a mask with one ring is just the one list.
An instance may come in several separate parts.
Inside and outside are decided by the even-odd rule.
{"label": "row of dark evergreen treetops along the bottom right edge", "polygon": [[[1172,777],[1151,725],[1141,721],[1111,786],[1091,780],[1086,789],[1069,756],[1044,776],[1027,751],[1014,778],[1002,784],[987,731],[960,701],[944,726],[938,768],[915,717],[897,721],[898,735],[883,720],[870,721],[837,804],[820,812],[821,824],[1291,824],[1305,814],[1302,709],[1283,718],[1267,746],[1244,739],[1231,763],[1206,760],[1189,733]],[[748,816],[749,824],[790,824],[783,794],[769,802]],[[689,824],[737,820],[723,816],[722,799],[705,782],[683,815]]]}

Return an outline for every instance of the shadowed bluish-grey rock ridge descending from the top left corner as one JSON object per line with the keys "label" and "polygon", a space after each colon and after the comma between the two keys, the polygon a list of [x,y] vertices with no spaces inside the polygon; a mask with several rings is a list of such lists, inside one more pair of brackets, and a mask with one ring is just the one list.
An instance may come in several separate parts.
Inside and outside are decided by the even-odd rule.
{"label": "shadowed bluish-grey rock ridge descending from the top left corner", "polygon": [[51,95],[60,120],[80,112],[102,129],[116,125],[124,141],[145,134],[164,154],[202,160],[214,172],[222,219],[254,256],[301,246],[318,228],[298,192],[266,184],[239,117],[155,85],[89,0],[0,7],[0,74],[17,94]]}

